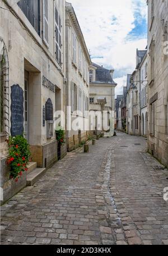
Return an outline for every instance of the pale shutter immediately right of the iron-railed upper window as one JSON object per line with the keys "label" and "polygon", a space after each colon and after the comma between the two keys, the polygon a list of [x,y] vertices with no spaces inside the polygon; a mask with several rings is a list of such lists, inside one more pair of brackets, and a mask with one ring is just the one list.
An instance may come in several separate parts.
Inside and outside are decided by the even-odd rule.
{"label": "pale shutter immediately right of the iron-railed upper window", "polygon": [[43,0],[43,40],[49,47],[48,0]]}

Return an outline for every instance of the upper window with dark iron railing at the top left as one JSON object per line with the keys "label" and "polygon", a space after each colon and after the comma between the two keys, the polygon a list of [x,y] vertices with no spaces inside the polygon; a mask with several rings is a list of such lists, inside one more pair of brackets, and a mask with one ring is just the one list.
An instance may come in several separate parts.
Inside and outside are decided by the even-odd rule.
{"label": "upper window with dark iron railing at the top left", "polygon": [[40,0],[21,0],[17,4],[35,31],[40,35]]}

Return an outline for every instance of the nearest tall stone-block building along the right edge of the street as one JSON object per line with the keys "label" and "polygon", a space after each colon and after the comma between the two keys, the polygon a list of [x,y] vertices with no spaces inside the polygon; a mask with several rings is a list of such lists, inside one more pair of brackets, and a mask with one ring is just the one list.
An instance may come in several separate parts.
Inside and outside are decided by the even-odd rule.
{"label": "nearest tall stone-block building along the right edge of the street", "polygon": [[148,150],[168,166],[168,1],[147,4]]}

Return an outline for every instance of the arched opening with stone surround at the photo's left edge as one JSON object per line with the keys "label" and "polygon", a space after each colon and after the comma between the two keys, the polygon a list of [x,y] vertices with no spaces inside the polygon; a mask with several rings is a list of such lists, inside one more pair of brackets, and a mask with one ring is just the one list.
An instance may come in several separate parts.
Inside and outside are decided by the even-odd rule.
{"label": "arched opening with stone surround at the photo's left edge", "polygon": [[10,107],[9,107],[9,62],[7,48],[0,36],[0,61],[1,61],[1,135],[10,132]]}

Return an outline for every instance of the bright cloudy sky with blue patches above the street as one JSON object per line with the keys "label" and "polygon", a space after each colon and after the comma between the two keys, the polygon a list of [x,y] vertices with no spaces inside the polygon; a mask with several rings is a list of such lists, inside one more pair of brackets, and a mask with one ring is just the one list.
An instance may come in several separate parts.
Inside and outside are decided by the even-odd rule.
{"label": "bright cloudy sky with blue patches above the street", "polygon": [[92,61],[114,68],[122,94],[136,66],[136,49],[147,45],[146,0],[69,0],[73,4]]}

